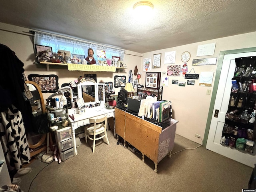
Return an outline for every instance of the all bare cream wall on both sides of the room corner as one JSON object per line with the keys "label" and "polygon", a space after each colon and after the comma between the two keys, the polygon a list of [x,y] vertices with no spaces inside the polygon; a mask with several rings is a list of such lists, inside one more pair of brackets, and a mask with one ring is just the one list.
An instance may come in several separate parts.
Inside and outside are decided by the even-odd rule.
{"label": "all bare cream wall on both sides of the room corner", "polygon": [[[4,29],[4,30],[1,30]],[[24,62],[24,69],[26,75],[35,73],[35,74],[56,74],[59,77],[59,85],[63,83],[69,83],[70,80],[75,80],[79,76],[84,74],[90,74],[90,72],[80,72],[80,71],[68,71],[67,67],[53,67],[50,66],[50,71],[46,71],[45,65],[33,64],[34,62],[34,50],[33,50],[33,41],[32,36],[17,34],[14,32],[8,32],[6,30],[12,30],[16,32],[28,32],[30,29],[20,28],[18,26],[12,26],[8,24],[0,23],[0,43],[6,46],[9,46],[18,58]],[[143,72],[143,58],[152,58],[153,54],[162,53],[161,59],[161,68],[152,69],[151,72],[166,72],[168,64],[164,64],[164,53],[169,51],[176,51],[176,62],[175,64],[183,65],[183,62],[180,60],[180,56],[184,51],[189,51],[191,54],[190,60],[187,62],[188,71],[192,69],[192,60],[197,58],[212,58],[218,57],[220,51],[224,50],[234,50],[241,48],[250,48],[256,47],[256,32],[230,36],[226,38],[219,38],[214,40],[208,40],[205,42],[198,42],[194,44],[188,44],[184,46],[172,47],[163,50],[156,50],[153,52],[147,52],[143,54],[143,57],[140,57],[142,54],[126,51],[125,53],[125,63],[127,69],[120,73],[112,72],[96,72],[97,80],[104,80],[104,82],[114,82],[115,75],[125,75],[128,80],[128,72],[132,70],[134,72],[135,66],[138,66],[138,72],[142,72],[140,83],[145,84],[145,72]],[[198,45],[208,44],[216,42],[215,53],[212,56],[203,56],[196,57]],[[172,45],[170,45],[171,47]],[[138,55],[132,56],[130,54]],[[217,68],[216,65],[210,66],[193,66],[196,74],[205,71],[213,71],[214,78]],[[163,76],[163,75],[162,75]],[[165,75],[166,76],[166,75]],[[136,76],[134,76],[134,79]],[[204,137],[206,121],[208,116],[208,110],[210,106],[210,100],[212,95],[206,95],[206,90],[212,90],[213,87],[202,87],[198,86],[199,80],[195,80],[194,86],[181,87],[178,85],[172,84],[172,79],[177,79],[179,81],[186,82],[184,77],[169,77],[169,86],[164,86],[163,88],[163,99],[170,100],[172,102],[173,108],[173,118],[178,120],[176,126],[176,133],[200,143],[201,140],[194,137],[194,134],[199,134],[202,139]],[[214,80],[212,85],[214,84]],[[116,88],[116,94],[120,88]],[[44,99],[48,98],[50,94],[43,94]]]}

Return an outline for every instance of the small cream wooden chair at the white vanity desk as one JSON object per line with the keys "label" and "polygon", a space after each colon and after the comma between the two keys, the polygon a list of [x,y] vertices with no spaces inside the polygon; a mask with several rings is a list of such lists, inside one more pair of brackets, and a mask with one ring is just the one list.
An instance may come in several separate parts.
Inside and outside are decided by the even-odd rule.
{"label": "small cream wooden chair at the white vanity desk", "polygon": [[[95,141],[102,139],[102,138],[106,138],[106,141],[109,145],[109,141],[108,141],[108,136],[107,136],[107,123],[108,123],[108,117],[104,116],[103,118],[90,118],[90,123],[92,123],[92,126],[88,127],[88,128],[84,128],[84,133],[85,133],[85,142],[87,143],[87,138],[93,141],[93,148],[92,148],[92,152],[94,153],[94,149],[95,149]],[[103,123],[105,121],[105,123]],[[96,135],[102,134],[102,136],[97,137]],[[90,137],[93,136],[92,137]]]}

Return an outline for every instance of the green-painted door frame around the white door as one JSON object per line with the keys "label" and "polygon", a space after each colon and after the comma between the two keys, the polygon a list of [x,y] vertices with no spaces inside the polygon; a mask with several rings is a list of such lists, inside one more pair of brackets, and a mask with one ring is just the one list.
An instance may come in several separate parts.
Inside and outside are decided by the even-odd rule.
{"label": "green-painted door frame around the white door", "polygon": [[214,104],[215,104],[215,100],[216,100],[218,84],[220,81],[220,73],[221,73],[221,69],[222,69],[222,63],[223,63],[224,56],[227,54],[246,53],[246,52],[255,52],[255,51],[256,51],[256,47],[227,50],[227,51],[220,52],[219,59],[218,59],[218,65],[217,65],[217,69],[216,69],[216,75],[215,75],[215,79],[214,79],[214,86],[213,86],[213,90],[212,90],[212,97],[211,97],[211,102],[210,102],[210,107],[209,107],[209,112],[208,112],[208,117],[207,117],[207,122],[206,122],[206,128],[205,128],[205,132],[204,132],[204,142],[203,142],[204,147],[206,147],[206,144],[208,141],[208,135],[209,135],[209,131],[210,131],[212,114],[213,114],[213,110],[214,110]]}

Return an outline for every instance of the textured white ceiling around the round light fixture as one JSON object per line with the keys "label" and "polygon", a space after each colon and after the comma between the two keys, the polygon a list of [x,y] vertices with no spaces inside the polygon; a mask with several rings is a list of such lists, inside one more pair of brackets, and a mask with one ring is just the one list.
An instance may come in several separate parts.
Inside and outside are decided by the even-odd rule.
{"label": "textured white ceiling around the round light fixture", "polygon": [[144,22],[138,1],[2,0],[0,22],[139,53],[256,31],[256,0],[149,0]]}

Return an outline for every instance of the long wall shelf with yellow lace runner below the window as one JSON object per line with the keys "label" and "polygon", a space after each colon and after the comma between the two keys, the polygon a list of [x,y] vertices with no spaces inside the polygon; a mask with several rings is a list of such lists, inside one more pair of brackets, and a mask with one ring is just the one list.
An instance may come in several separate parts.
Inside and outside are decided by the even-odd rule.
{"label": "long wall shelf with yellow lace runner below the window", "polygon": [[83,64],[67,64],[67,63],[52,63],[52,62],[39,62],[39,64],[46,65],[46,70],[47,71],[50,71],[50,67],[49,67],[50,65],[68,66],[68,70],[72,70],[72,71],[116,72],[116,70],[118,70],[118,73],[120,73],[120,70],[122,71],[123,69],[127,69],[125,67],[83,65]]}

